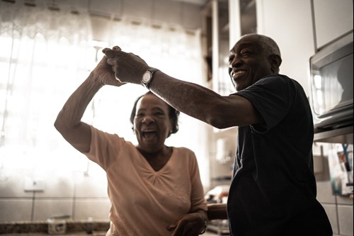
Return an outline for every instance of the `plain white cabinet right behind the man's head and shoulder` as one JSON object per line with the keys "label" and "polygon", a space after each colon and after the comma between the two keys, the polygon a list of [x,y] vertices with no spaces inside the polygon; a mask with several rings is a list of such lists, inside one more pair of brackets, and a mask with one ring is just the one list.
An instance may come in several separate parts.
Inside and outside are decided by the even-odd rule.
{"label": "plain white cabinet right behind the man's head and shoulder", "polygon": [[280,47],[280,74],[297,80],[309,96],[309,58],[314,55],[312,0],[256,0],[257,33]]}

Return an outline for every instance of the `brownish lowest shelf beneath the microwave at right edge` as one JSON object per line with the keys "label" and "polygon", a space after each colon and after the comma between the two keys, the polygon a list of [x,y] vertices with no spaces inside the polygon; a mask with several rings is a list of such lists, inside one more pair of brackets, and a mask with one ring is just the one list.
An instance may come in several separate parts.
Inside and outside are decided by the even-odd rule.
{"label": "brownish lowest shelf beneath the microwave at right edge", "polygon": [[315,133],[314,141],[353,144],[353,125],[336,130]]}

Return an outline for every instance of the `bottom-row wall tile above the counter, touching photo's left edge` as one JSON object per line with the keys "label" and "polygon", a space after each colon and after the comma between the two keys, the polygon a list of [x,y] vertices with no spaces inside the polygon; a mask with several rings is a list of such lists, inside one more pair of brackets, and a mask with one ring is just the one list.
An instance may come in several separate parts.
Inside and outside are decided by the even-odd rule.
{"label": "bottom-row wall tile above the counter, touching photo's left edge", "polygon": [[0,221],[31,220],[32,198],[0,199]]}

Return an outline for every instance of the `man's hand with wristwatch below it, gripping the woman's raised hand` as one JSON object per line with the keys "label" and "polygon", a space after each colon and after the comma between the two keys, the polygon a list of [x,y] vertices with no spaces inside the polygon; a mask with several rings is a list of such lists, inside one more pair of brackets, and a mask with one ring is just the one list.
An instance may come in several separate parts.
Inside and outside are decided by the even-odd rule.
{"label": "man's hand with wristwatch below it, gripping the woman's raised hand", "polygon": [[149,69],[142,58],[122,52],[118,46],[113,47],[113,50],[105,48],[102,52],[108,58],[108,65],[112,66],[115,79],[122,83],[142,84],[142,74]]}

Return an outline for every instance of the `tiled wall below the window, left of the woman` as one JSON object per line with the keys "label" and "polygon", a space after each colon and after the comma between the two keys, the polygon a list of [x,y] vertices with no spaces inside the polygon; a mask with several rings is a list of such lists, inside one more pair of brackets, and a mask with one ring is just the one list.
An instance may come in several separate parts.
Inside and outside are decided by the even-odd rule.
{"label": "tiled wall below the window, left of the woman", "polygon": [[32,170],[0,170],[0,222],[47,220],[70,215],[73,220],[108,220],[110,201],[103,171],[47,171],[43,191],[25,191]]}

